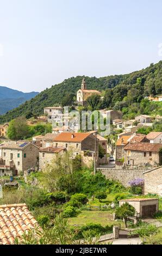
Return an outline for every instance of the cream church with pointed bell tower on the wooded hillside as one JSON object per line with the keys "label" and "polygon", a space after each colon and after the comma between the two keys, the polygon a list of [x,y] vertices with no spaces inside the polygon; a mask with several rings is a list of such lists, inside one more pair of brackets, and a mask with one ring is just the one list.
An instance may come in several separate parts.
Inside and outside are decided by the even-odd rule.
{"label": "cream church with pointed bell tower on the wooded hillside", "polygon": [[85,106],[86,105],[86,100],[88,99],[88,97],[90,97],[94,94],[101,95],[101,92],[98,92],[98,90],[88,90],[88,89],[86,89],[85,78],[83,78],[82,88],[79,89],[78,92],[77,92],[77,103],[78,103],[78,105]]}

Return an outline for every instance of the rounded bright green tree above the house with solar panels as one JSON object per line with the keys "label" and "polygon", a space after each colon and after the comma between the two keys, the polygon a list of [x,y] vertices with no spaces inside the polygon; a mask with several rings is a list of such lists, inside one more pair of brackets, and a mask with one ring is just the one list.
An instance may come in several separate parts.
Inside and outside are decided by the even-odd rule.
{"label": "rounded bright green tree above the house with solar panels", "polygon": [[18,117],[9,123],[7,136],[9,139],[24,139],[29,135],[27,119]]}

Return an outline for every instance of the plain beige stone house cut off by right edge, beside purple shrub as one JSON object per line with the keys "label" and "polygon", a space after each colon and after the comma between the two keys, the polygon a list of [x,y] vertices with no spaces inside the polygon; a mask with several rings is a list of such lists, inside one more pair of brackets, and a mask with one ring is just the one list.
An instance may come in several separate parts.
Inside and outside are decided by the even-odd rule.
{"label": "plain beige stone house cut off by right edge, beside purple shrub", "polygon": [[145,176],[145,185],[144,192],[145,194],[158,194],[162,196],[162,166],[148,170],[144,172]]}

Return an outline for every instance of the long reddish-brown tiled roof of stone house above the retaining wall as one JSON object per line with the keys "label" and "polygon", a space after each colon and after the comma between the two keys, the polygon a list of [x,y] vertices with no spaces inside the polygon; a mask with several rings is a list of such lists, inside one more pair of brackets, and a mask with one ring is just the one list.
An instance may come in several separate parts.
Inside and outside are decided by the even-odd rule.
{"label": "long reddish-brown tiled roof of stone house above the retaining wall", "polygon": [[162,144],[155,143],[128,143],[124,149],[125,150],[134,150],[134,151],[148,151],[148,152],[159,152],[159,149],[162,148]]}

